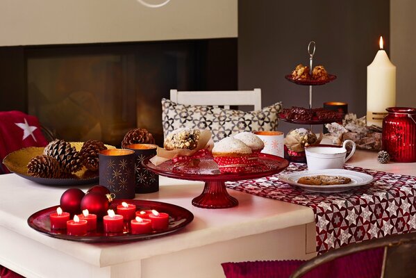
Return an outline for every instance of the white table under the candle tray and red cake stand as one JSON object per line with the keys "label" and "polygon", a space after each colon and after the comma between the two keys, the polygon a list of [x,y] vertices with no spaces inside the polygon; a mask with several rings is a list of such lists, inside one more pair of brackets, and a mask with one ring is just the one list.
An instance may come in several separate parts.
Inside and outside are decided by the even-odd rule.
{"label": "white table under the candle tray and red cake stand", "polygon": [[[416,163],[376,162],[358,151],[352,165],[416,175]],[[235,190],[234,208],[192,206],[203,183],[160,177],[160,191],[136,195],[183,206],[194,214],[169,236],[131,243],[89,244],[51,238],[28,227],[29,215],[59,203],[66,188],[15,174],[0,176],[0,264],[25,277],[224,277],[221,263],[315,256],[312,209]],[[87,187],[81,187],[86,190]]]}

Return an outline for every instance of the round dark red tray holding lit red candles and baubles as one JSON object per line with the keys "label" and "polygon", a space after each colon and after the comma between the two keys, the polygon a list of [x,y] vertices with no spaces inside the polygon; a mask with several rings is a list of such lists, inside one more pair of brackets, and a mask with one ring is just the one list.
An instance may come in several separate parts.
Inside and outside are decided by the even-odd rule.
{"label": "round dark red tray holding lit red candles and baubles", "polygon": [[[42,234],[51,236],[52,238],[60,238],[64,240],[72,240],[84,243],[122,243],[128,241],[138,241],[138,240],[149,240],[151,238],[158,238],[160,236],[167,236],[172,234],[179,229],[183,229],[194,219],[194,215],[188,211],[188,209],[175,204],[168,204],[165,202],[149,201],[149,200],[140,200],[140,199],[115,199],[110,204],[110,208],[115,208],[117,204],[122,202],[128,202],[128,204],[135,204],[138,206],[138,210],[146,209],[156,209],[159,212],[169,213],[169,227],[161,231],[152,231],[149,234],[128,234],[126,231],[123,233],[109,234],[106,235],[103,231],[96,231],[87,234],[87,236],[69,236],[65,234],[65,230],[62,231],[51,231],[45,227],[41,227],[37,222],[42,222],[47,224],[49,222],[49,214],[56,211],[58,206],[51,206],[49,208],[44,208],[40,211],[33,213],[29,216],[27,222],[29,227],[39,231]],[[102,224],[98,224],[98,226]],[[101,227],[102,229],[102,227]]]}

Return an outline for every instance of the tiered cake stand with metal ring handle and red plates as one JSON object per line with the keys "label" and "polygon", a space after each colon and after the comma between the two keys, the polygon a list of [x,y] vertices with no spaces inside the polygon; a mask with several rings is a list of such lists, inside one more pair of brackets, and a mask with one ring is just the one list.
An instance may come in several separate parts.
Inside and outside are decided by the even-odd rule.
{"label": "tiered cake stand with metal ring handle and red plates", "polygon": [[[312,69],[313,69],[313,55],[315,54],[315,42],[311,41],[308,44],[308,54],[309,54],[309,75],[312,76]],[[293,79],[291,74],[285,76],[290,82],[296,83],[297,85],[308,85],[309,86],[309,109],[312,110],[312,88],[316,85],[324,85],[331,81],[334,81],[337,76],[333,74],[328,74],[328,79],[325,80],[314,80],[314,79]],[[342,116],[338,118],[331,118],[325,120],[292,120],[285,117],[281,117],[281,114],[278,115],[279,119],[283,122],[290,122],[291,124],[308,124],[310,125],[310,131],[313,131],[312,126],[315,124],[328,124],[331,122],[337,122],[342,120]],[[288,154],[287,149],[285,147],[285,158],[288,161],[292,162],[301,162],[306,163],[306,156],[291,156]]]}

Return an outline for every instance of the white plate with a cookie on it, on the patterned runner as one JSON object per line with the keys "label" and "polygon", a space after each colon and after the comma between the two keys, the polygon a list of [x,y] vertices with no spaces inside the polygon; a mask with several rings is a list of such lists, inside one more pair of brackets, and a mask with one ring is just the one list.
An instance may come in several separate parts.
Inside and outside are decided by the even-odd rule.
{"label": "white plate with a cookie on it, on the patterned runner", "polygon": [[[342,176],[348,177],[351,179],[351,183],[347,184],[335,184],[333,186],[310,186],[308,184],[297,183],[297,180],[301,177],[316,176],[318,174],[326,174],[328,176]],[[326,169],[326,170],[315,170],[315,171],[302,171],[294,172],[291,174],[281,174],[278,179],[285,183],[289,183],[292,186],[297,186],[303,190],[310,192],[319,192],[319,193],[335,193],[351,190],[357,186],[364,186],[372,182],[373,177],[369,174],[364,174],[361,172],[355,172],[351,170],[344,169]]]}

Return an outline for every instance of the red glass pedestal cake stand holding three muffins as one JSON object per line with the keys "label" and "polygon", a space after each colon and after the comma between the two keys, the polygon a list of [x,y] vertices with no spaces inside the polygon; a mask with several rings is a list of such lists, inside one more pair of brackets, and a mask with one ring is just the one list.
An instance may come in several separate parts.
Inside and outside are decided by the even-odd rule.
{"label": "red glass pedestal cake stand holding three muffins", "polygon": [[186,179],[190,181],[204,181],[203,192],[192,199],[192,204],[199,208],[231,208],[238,205],[235,197],[228,195],[225,182],[240,181],[243,179],[258,179],[281,172],[289,165],[285,158],[260,154],[258,163],[245,167],[243,172],[222,173],[212,156],[200,158],[199,164],[194,167],[175,165],[166,161],[158,166],[153,165],[149,158],[143,161],[144,167],[165,177]]}

